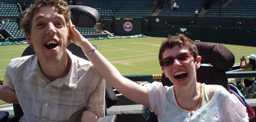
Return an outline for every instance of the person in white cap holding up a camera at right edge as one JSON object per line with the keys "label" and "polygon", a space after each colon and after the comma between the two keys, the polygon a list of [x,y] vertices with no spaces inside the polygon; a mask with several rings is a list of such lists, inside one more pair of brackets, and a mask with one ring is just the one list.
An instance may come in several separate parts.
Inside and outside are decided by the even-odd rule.
{"label": "person in white cap holding up a camera at right edge", "polygon": [[[249,63],[247,63],[245,56],[242,56],[240,58],[240,68],[245,69],[245,71],[255,71],[256,68],[256,56],[254,54],[251,54],[250,56],[247,56],[249,58]],[[245,65],[242,65],[242,62],[245,61]],[[244,78],[245,87],[250,87],[255,81],[255,78]]]}

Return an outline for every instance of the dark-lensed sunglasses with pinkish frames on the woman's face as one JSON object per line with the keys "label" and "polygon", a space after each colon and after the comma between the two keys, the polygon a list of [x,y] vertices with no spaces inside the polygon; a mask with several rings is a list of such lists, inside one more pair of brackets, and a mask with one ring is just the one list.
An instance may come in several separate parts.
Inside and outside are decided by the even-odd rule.
{"label": "dark-lensed sunglasses with pinkish frames on the woman's face", "polygon": [[184,62],[187,61],[189,59],[191,59],[192,57],[192,52],[183,52],[178,54],[176,57],[166,57],[164,59],[162,59],[161,61],[159,61],[160,66],[164,67],[164,66],[171,66],[174,62],[175,59],[177,59],[179,62]]}

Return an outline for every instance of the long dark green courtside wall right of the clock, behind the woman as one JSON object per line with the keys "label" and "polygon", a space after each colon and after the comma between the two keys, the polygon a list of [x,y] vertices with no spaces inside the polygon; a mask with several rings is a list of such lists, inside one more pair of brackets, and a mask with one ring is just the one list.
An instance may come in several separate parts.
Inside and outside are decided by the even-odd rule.
{"label": "long dark green courtside wall right of the clock, behind the woman", "polygon": [[186,28],[187,33],[189,33],[189,38],[192,40],[222,44],[256,46],[255,29],[170,25],[168,27],[169,33],[172,35],[181,33],[180,28]]}

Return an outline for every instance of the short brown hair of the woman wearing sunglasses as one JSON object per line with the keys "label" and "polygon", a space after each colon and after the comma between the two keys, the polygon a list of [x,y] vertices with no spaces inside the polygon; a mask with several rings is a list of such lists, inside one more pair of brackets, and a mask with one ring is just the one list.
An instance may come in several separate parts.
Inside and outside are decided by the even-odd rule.
{"label": "short brown hair of the woman wearing sunglasses", "polygon": [[180,48],[185,46],[189,51],[192,52],[194,60],[198,56],[198,50],[195,45],[195,42],[189,39],[184,34],[179,34],[177,36],[168,35],[168,39],[164,40],[160,46],[158,59],[161,61],[163,59],[163,53],[167,49],[171,49],[172,47],[178,45]]}

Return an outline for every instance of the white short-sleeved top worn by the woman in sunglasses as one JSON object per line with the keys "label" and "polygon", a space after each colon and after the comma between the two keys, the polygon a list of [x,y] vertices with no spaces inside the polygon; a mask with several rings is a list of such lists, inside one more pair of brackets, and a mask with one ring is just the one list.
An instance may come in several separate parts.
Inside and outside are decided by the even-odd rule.
{"label": "white short-sleeved top worn by the woman in sunglasses", "polygon": [[151,111],[159,122],[249,122],[245,106],[222,86],[217,86],[211,100],[196,111],[186,111],[177,105],[173,86],[160,82],[147,83]]}

